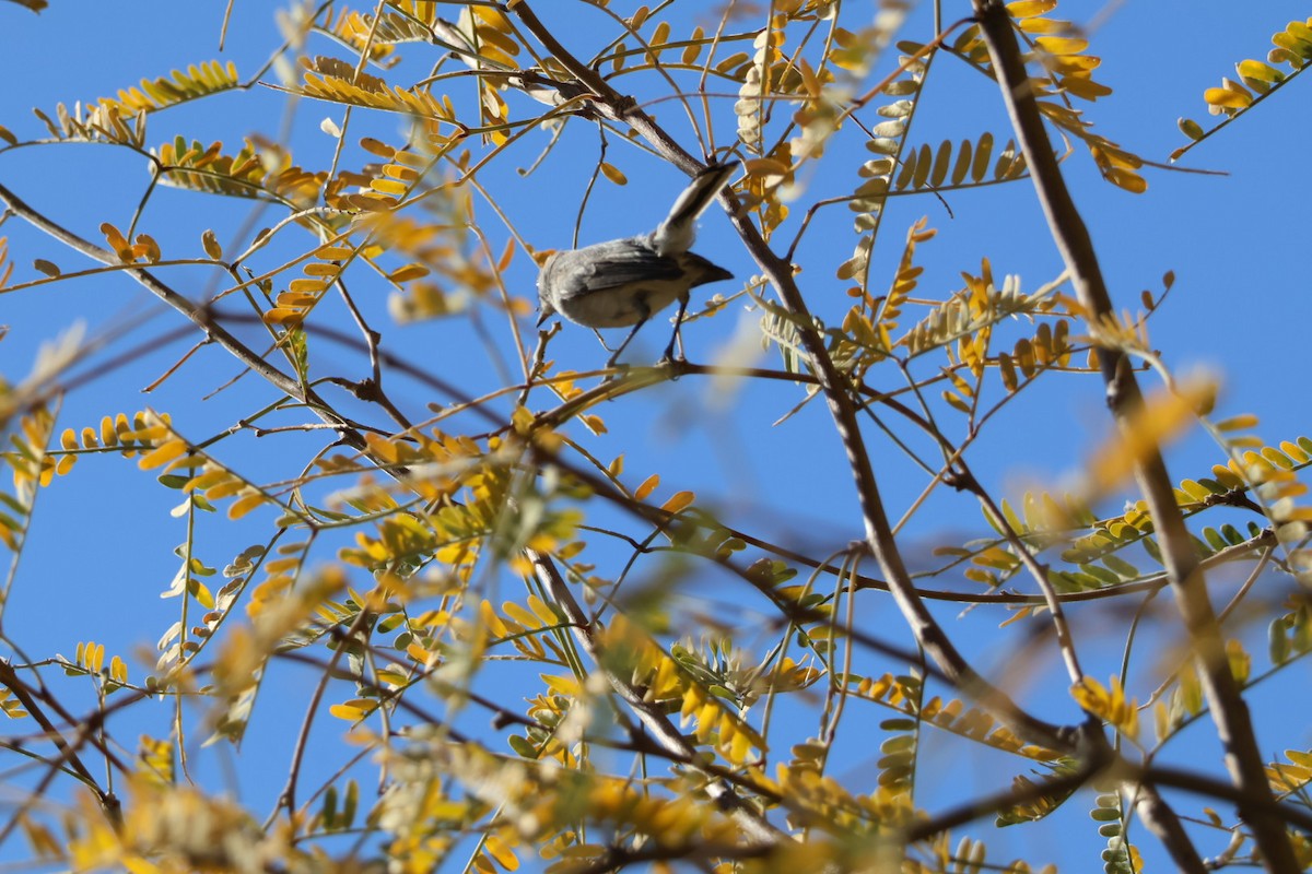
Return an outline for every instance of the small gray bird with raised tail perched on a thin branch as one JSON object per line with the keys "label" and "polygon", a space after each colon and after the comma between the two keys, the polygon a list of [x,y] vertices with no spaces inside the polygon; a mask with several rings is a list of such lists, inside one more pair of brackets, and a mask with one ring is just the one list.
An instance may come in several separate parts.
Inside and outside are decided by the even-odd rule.
{"label": "small gray bird with raised tail perched on a thin branch", "polygon": [[558,252],[547,258],[538,274],[542,311],[538,325],[554,313],[585,328],[632,325],[628,337],[606,362],[610,367],[638,329],[677,297],[674,333],[661,359],[670,360],[687,311],[687,292],[708,282],[733,278],[728,270],[716,267],[689,248],[697,236],[698,216],[720,193],[735,168],[737,161],[711,164],[698,173],[651,233]]}

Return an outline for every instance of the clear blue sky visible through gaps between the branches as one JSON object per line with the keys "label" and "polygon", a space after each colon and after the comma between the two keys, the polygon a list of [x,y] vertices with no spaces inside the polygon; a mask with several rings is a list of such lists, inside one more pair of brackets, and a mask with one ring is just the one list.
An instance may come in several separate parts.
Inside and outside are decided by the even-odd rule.
{"label": "clear blue sky visible through gaps between the branches", "polygon": [[[538,4],[548,26],[564,21],[563,16],[552,17],[558,13],[552,3]],[[274,7],[235,4],[227,46],[219,54],[218,28],[224,5],[54,0],[38,17],[4,4],[0,7],[0,80],[9,84],[0,89],[0,124],[20,138],[38,136],[41,127],[30,114],[31,106],[50,113],[58,102],[89,101],[105,96],[109,89],[135,85],[142,77],[161,76],[176,67],[211,58],[232,59],[243,77],[249,76],[278,45],[278,31],[270,25]],[[631,5],[613,4],[619,12]],[[956,5],[966,7],[964,3]],[[572,46],[586,46],[588,39],[604,33],[606,26],[604,18],[585,12],[568,18],[565,33]],[[1097,13],[1102,21],[1092,51],[1105,59],[1098,79],[1111,85],[1115,94],[1088,109],[1097,128],[1130,151],[1161,162],[1183,142],[1176,127],[1177,117],[1187,115],[1206,124],[1202,90],[1219,84],[1221,76],[1233,76],[1235,62],[1263,56],[1270,34],[1286,21],[1309,14],[1304,3],[1212,0],[1068,1],[1061,12],[1067,17]],[[928,37],[924,8],[912,16],[904,35]],[[327,42],[311,51],[318,52],[344,55],[340,47]],[[411,58],[403,67],[405,71],[430,63],[417,48],[405,54]],[[921,98],[924,119],[917,121],[913,139],[937,144],[943,138],[960,139],[992,130],[1000,142],[1005,140],[1005,115],[991,88],[991,83],[967,71],[935,71]],[[1174,271],[1176,288],[1151,322],[1155,345],[1177,372],[1208,368],[1220,373],[1224,392],[1219,414],[1258,414],[1257,432],[1269,443],[1309,430],[1307,405],[1296,379],[1307,362],[1303,333],[1312,321],[1304,266],[1307,224],[1299,219],[1302,204],[1312,195],[1312,177],[1304,172],[1305,144],[1312,139],[1305,90],[1305,83],[1296,83],[1221,136],[1194,149],[1183,161],[1186,166],[1220,170],[1224,176],[1149,169],[1145,172],[1148,193],[1135,197],[1101,182],[1092,162],[1078,151],[1065,164],[1115,299],[1135,309],[1141,290],[1160,291],[1162,274]],[[723,101],[724,105],[729,102]],[[686,126],[680,127],[670,106],[661,104],[655,109],[661,121],[669,119],[674,135],[684,139]],[[236,145],[252,132],[285,128],[298,162],[314,168],[325,165],[333,140],[320,132],[319,123],[324,118],[340,121],[341,109],[310,102],[297,106],[293,115],[285,115],[285,109],[279,93],[256,86],[249,93],[220,96],[160,114],[151,119],[147,139],[154,144],[185,132],[206,143],[222,139]],[[514,110],[529,111],[518,104]],[[352,138],[369,132],[398,142],[398,130],[394,119],[361,115],[353,121]],[[731,143],[731,124],[722,126],[718,138],[722,144]],[[543,140],[527,140],[527,145],[504,156],[505,160],[489,168],[480,181],[495,193],[517,229],[531,235],[537,248],[564,248],[569,244],[577,203],[596,161],[597,136],[586,123],[575,122],[539,170],[518,174],[518,168],[529,166],[537,157]],[[808,180],[806,198],[838,195],[855,185],[855,168],[869,156],[855,140],[841,148],[846,151],[823,162],[824,169]],[[621,189],[600,183],[583,220],[584,242],[648,229],[660,220],[684,183],[672,168],[638,149],[626,149],[623,142],[613,139],[606,157],[626,173],[630,185]],[[362,160],[358,152],[353,160]],[[147,174],[135,156],[102,147],[62,145],[0,153],[0,182],[83,236],[100,241],[96,228],[101,221],[126,225]],[[1059,273],[1059,258],[1027,183],[956,194],[947,198],[947,206],[951,215],[930,197],[891,202],[886,218],[888,231],[876,252],[876,271],[887,273],[896,263],[904,228],[928,216],[938,237],[921,249],[920,259],[926,266],[921,290],[926,295],[959,287],[959,271],[976,271],[984,257],[992,261],[998,275],[1019,274],[1025,288],[1038,287]],[[167,253],[195,254],[202,231],[215,228],[219,238],[227,240],[224,235],[234,233],[249,208],[245,202],[163,191],[152,199],[142,229],[156,236]],[[496,227],[487,206],[479,203],[476,210],[478,218],[496,228],[495,236],[504,240],[505,232]],[[825,224],[808,237],[799,254],[804,267],[800,280],[813,311],[837,321],[848,301],[844,283],[833,278],[833,267],[848,257],[855,236],[850,214],[842,207],[821,215]],[[268,215],[262,218],[265,223],[272,220]],[[16,279],[30,275],[28,263],[33,257],[49,258],[66,270],[77,262],[77,257],[16,225],[16,220],[9,220],[0,228],[0,233],[10,237],[10,252],[21,256]],[[740,279],[754,271],[728,223],[715,210],[703,218],[697,250]],[[517,253],[509,273],[512,294],[531,300],[534,278],[529,259],[522,252]],[[213,290],[216,282],[215,276],[201,271],[177,271],[169,274],[169,279],[195,297]],[[724,291],[736,287],[727,284]],[[499,384],[487,346],[470,330],[468,321],[454,318],[394,326],[388,322],[384,295],[374,294],[377,290],[363,280],[358,288],[362,309],[375,328],[384,332],[390,350],[471,390]],[[693,322],[685,330],[690,358],[714,359],[740,325],[750,329],[757,318],[757,313],[735,307],[715,318]],[[38,345],[75,321],[85,322],[91,334],[97,335],[136,320],[144,321],[112,350],[160,337],[178,324],[174,314],[161,311],[144,291],[122,278],[87,279],[0,296],[0,324],[9,326],[8,337],[0,342],[0,373],[16,381],[26,372]],[[523,320],[525,329],[530,321]],[[488,314],[485,322],[499,350],[506,354],[510,347],[504,321]],[[634,360],[655,359],[664,341],[664,326],[648,328],[635,341]],[[105,352],[88,366],[94,379],[64,400],[60,421],[81,427],[93,425],[104,414],[152,406],[172,411],[174,421],[190,428],[188,436],[199,439],[274,398],[272,390],[248,384],[241,390],[227,390],[199,402],[201,394],[236,375],[235,368],[213,351],[202,352],[161,388],[143,394],[143,387],[161,376],[190,342],[189,338],[143,350],[131,362],[97,372],[97,362],[104,363],[113,354]],[[316,352],[325,372],[340,368],[353,377],[365,372],[362,359],[354,352],[323,346]],[[605,360],[588,332],[572,326],[565,326],[554,341],[552,356],[559,367],[576,370],[597,367]],[[777,358],[771,352],[760,362],[775,366]],[[896,375],[884,379],[874,375],[871,383],[897,385]],[[247,377],[247,383],[253,380]],[[403,379],[395,380],[392,387],[394,398],[411,410],[421,411],[426,402],[449,400],[433,397],[426,388]],[[859,518],[842,451],[823,406],[812,402],[787,423],[770,427],[798,400],[795,390],[782,385],[745,385],[726,401],[718,387],[685,379],[600,410],[610,427],[606,438],[576,436],[588,440],[589,448],[602,460],[623,451],[631,486],[648,473],[660,472],[663,482],[657,499],[680,489],[697,489],[699,497],[726,518],[744,524],[764,520],[766,536],[825,554],[861,535]],[[550,398],[539,393],[530,406],[542,409],[548,402]],[[997,426],[981,436],[970,460],[988,484],[1014,499],[1026,487],[1054,487],[1069,481],[1107,427],[1097,380],[1054,379],[1009,409]],[[308,457],[319,443],[314,436],[262,440],[243,436],[226,446],[230,457],[240,460],[243,473],[256,480],[274,480],[294,472],[289,464]],[[896,518],[924,487],[924,478],[905,469],[892,444],[880,442],[878,435],[871,435],[871,452],[880,459],[878,469],[884,498]],[[1199,432],[1181,440],[1170,455],[1177,480],[1206,474],[1210,465],[1220,460],[1216,447]],[[177,601],[157,598],[177,566],[171,550],[181,541],[182,529],[168,515],[168,508],[176,503],[174,493],[160,489],[130,461],[84,459],[73,477],[42,494],[14,598],[7,605],[5,630],[41,654],[59,651],[71,656],[77,641],[92,638],[125,658],[143,646],[148,649],[177,618]],[[908,528],[908,542],[922,546],[921,552],[945,540],[987,532],[979,511],[960,498],[935,495],[930,507]],[[222,566],[241,548],[266,539],[269,522],[258,514],[237,525],[219,519],[203,520],[205,560]],[[325,552],[321,558],[328,556]],[[604,562],[615,556],[598,553],[596,558]],[[613,567],[607,570],[614,573]],[[512,584],[501,580],[504,598],[516,595]],[[695,584],[699,588],[690,595],[691,604],[722,605],[728,611],[741,607],[735,591],[720,594],[712,588],[714,579],[698,578]],[[890,604],[872,600],[869,609],[878,611],[890,629],[900,629],[900,620]],[[953,612],[943,611],[942,616],[951,620]],[[106,622],[106,617],[113,621]],[[950,630],[966,641],[968,651],[998,672],[1014,667],[1008,664],[1013,651],[997,649],[996,643],[1000,639],[996,626],[1002,617],[975,611],[950,625]],[[1088,611],[1080,618],[1088,622],[1090,641],[1106,645],[1118,638],[1117,615]],[[888,636],[897,643],[909,642],[904,633],[890,632]],[[1097,666],[1090,672],[1098,677],[1106,677],[1119,664],[1119,649],[1114,643],[1098,646],[1088,655]],[[130,660],[134,676],[140,676],[142,662]],[[1029,679],[1027,689],[1035,706],[1054,718],[1072,718],[1069,701],[1052,693],[1060,689],[1060,675],[1044,668],[1034,666]],[[1295,668],[1283,681],[1292,681],[1295,672],[1303,679],[1304,671]],[[276,693],[269,700],[303,698],[306,685],[303,674],[289,671],[269,689]],[[1278,698],[1279,692],[1261,691],[1258,709],[1267,696]],[[265,807],[258,799],[264,798],[262,803],[268,805],[269,793],[281,785],[287,731],[299,723],[303,702],[290,713],[265,706],[264,718],[257,719],[258,734],[245,750],[244,761],[253,765],[235,769],[244,794],[249,793],[260,810]],[[1288,706],[1296,709],[1292,715],[1288,710],[1282,713],[1284,730],[1263,740],[1273,748],[1305,748],[1312,744],[1307,729],[1312,713],[1302,696]],[[324,723],[329,723],[327,717]],[[1291,731],[1294,726],[1304,727]],[[336,729],[332,726],[325,734]],[[123,736],[130,739],[133,734],[125,731]],[[855,744],[845,755],[850,757],[850,773],[861,774],[878,753]],[[219,778],[218,759],[215,753],[199,755],[199,767],[213,769],[210,773]],[[975,763],[970,761],[955,764],[963,768],[963,782],[977,773],[975,788],[980,790],[997,773],[987,768],[974,772]],[[1072,822],[1080,822],[1078,816]],[[1017,853],[1034,850],[1035,858],[1042,858],[1051,850],[1069,860],[1069,870],[1080,870],[1081,864],[1088,864],[1088,856],[1080,853],[1097,846],[1099,839],[1088,820],[1077,828],[1080,841],[1061,848],[1026,846],[1026,837],[1018,837]],[[1027,836],[1038,831],[1042,829],[1031,829]],[[998,840],[1001,846],[1008,837]],[[1052,840],[1051,832],[1048,840]],[[8,854],[5,849],[0,853]]]}

